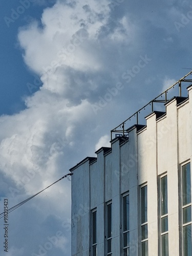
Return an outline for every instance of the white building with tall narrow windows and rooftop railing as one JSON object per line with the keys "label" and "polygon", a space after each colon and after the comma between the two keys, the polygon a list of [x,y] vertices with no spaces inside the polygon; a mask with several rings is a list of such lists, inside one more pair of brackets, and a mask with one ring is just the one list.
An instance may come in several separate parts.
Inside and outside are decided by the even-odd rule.
{"label": "white building with tall narrow windows and rooftop railing", "polygon": [[111,147],[70,169],[72,256],[192,255],[191,73],[171,87],[179,96],[168,100],[169,88],[149,102],[145,125],[139,110],[136,125],[126,129],[127,119],[111,131]]}

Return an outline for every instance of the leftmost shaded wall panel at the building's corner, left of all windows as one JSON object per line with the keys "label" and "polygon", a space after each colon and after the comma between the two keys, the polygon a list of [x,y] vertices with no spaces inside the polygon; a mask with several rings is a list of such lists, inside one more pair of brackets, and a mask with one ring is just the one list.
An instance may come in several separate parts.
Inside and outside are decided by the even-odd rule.
{"label": "leftmost shaded wall panel at the building's corner, left of all windows", "polygon": [[89,161],[78,167],[72,179],[72,255],[89,256],[90,177]]}

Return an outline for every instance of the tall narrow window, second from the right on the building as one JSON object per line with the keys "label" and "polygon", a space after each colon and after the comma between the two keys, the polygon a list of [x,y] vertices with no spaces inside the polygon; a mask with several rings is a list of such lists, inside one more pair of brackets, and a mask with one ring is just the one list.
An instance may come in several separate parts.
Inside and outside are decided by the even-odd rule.
{"label": "tall narrow window, second from the right on the building", "polygon": [[167,175],[161,177],[161,255],[168,256]]}

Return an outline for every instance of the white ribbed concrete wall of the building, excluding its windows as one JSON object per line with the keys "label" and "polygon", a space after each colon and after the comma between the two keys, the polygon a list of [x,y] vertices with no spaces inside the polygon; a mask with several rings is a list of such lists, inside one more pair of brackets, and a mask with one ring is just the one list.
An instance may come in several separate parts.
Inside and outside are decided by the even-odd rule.
{"label": "white ribbed concrete wall of the building, excluding its windows", "polygon": [[[179,241],[180,170],[192,158],[192,87],[189,99],[166,104],[166,114],[153,112],[146,127],[130,128],[129,140],[116,138],[97,151],[95,161],[82,161],[72,176],[72,256],[91,255],[90,210],[97,208],[98,255],[105,255],[105,208],[112,201],[113,255],[122,255],[122,195],[130,194],[130,252],[141,255],[140,186],[147,184],[148,251],[160,255],[160,177],[167,174],[169,255],[181,255]],[[161,116],[161,117],[159,117]],[[159,238],[159,239],[158,239]],[[180,252],[180,253],[179,253]]]}

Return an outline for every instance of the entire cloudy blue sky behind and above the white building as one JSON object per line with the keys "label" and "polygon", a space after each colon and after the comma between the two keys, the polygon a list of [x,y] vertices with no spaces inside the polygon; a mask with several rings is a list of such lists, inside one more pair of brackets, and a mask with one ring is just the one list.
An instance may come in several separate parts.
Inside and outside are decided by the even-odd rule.
{"label": "entire cloudy blue sky behind and above the white building", "polygon": [[[190,71],[192,5],[2,0],[0,7],[3,212],[4,199],[12,207],[110,146],[110,130]],[[71,181],[63,179],[9,214],[8,253],[0,220],[0,254],[71,255],[70,214]]]}

